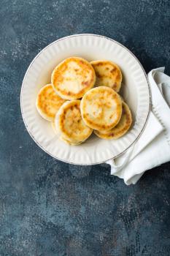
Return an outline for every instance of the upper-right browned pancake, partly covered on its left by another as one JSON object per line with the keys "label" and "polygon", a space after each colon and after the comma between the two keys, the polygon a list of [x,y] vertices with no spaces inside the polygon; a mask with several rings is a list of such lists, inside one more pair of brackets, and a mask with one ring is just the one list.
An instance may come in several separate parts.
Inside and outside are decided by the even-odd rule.
{"label": "upper-right browned pancake, partly covered on its left by another", "polygon": [[120,90],[122,73],[117,64],[112,61],[91,61],[96,72],[96,86],[108,86],[115,91]]}

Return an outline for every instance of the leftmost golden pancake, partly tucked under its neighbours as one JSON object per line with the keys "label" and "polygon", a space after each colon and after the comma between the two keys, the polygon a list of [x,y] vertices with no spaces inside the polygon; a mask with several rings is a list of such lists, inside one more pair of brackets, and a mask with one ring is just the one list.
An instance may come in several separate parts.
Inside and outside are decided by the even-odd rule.
{"label": "leftmost golden pancake, partly tucked under its neighbours", "polygon": [[51,84],[47,84],[40,89],[36,98],[36,108],[40,115],[48,121],[53,121],[58,109],[65,102],[59,97]]}

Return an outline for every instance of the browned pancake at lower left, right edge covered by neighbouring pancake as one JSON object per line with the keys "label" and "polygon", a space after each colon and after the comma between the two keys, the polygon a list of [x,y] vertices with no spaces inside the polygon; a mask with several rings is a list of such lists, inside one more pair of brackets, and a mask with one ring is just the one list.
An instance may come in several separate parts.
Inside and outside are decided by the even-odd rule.
{"label": "browned pancake at lower left, right edge covered by neighbouring pancake", "polygon": [[79,99],[65,102],[62,105],[55,117],[55,126],[58,126],[61,137],[72,143],[86,140],[93,131],[82,120]]}

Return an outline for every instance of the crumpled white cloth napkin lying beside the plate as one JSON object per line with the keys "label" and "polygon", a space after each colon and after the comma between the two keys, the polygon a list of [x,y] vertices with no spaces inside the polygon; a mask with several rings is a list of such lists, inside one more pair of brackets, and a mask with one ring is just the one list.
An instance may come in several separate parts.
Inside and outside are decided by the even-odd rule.
{"label": "crumpled white cloth napkin lying beside the plate", "polygon": [[139,140],[123,155],[107,161],[111,174],[136,184],[146,170],[170,161],[170,77],[164,67],[148,74],[152,111]]}

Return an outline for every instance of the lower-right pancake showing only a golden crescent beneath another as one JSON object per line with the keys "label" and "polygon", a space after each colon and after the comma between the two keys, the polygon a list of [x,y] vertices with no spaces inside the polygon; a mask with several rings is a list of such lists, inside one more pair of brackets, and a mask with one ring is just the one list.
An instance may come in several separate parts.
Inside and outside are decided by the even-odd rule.
{"label": "lower-right pancake showing only a golden crescent beneath another", "polygon": [[123,110],[122,116],[119,123],[109,131],[94,131],[94,133],[102,139],[112,140],[117,139],[125,135],[128,132],[128,129],[131,127],[132,117],[131,110],[128,108],[128,105],[125,102],[122,102]]}

